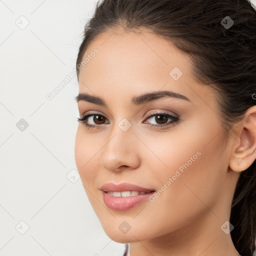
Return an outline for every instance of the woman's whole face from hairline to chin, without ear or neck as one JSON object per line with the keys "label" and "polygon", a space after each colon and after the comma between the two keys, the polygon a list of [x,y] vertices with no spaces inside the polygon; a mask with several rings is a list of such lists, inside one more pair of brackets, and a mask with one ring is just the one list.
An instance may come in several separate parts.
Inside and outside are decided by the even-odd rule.
{"label": "woman's whole face from hairline to chin, without ear or neck", "polygon": [[[214,93],[194,80],[188,55],[151,33],[119,31],[100,34],[86,57],[79,93],[105,105],[78,100],[80,116],[93,113],[85,122],[95,126],[78,124],[75,161],[106,234],[131,242],[205,223],[220,230],[237,176],[228,168],[230,145]],[[158,96],[133,99],[147,93]],[[156,192],[107,193],[105,201],[101,186],[109,182]]]}

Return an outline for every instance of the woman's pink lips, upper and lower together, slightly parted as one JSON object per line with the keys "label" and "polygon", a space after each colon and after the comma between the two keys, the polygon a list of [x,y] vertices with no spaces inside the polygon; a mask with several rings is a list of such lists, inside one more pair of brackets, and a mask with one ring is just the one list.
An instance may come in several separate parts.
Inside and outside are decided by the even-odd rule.
{"label": "woman's pink lips, upper and lower together, slightly parted", "polygon": [[[130,183],[106,183],[100,188],[102,190],[103,200],[106,206],[112,210],[127,210],[134,207],[137,203],[147,200],[154,192],[153,189],[144,188]],[[138,194],[134,196],[113,196],[106,191],[144,191],[146,194]]]}

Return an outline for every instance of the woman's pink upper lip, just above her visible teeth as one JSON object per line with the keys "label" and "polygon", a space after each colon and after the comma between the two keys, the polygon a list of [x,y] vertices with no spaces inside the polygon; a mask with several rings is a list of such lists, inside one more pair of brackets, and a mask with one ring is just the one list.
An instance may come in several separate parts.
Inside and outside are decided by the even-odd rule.
{"label": "woman's pink upper lip, just above her visible teeth", "polygon": [[121,191],[145,191],[145,192],[151,192],[151,191],[155,191],[154,189],[150,189],[150,188],[145,188],[145,187],[141,187],[135,184],[131,184],[131,183],[120,183],[120,184],[114,184],[112,182],[110,183],[105,183],[100,187],[101,190],[103,191],[114,191],[114,192],[121,192]]}

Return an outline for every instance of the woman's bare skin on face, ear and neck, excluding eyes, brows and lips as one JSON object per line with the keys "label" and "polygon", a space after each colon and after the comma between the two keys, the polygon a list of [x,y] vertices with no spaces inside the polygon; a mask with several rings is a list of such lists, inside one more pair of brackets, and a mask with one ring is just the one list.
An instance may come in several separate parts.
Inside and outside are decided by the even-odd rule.
{"label": "woman's bare skin on face, ear and neck, excluding eyes, brows and lips", "polygon": [[[129,242],[130,256],[239,255],[230,234],[220,227],[229,220],[240,172],[256,158],[256,106],[247,110],[227,140],[216,95],[195,80],[189,56],[171,43],[145,30],[118,29],[97,36],[84,57],[95,48],[99,52],[80,69],[79,92],[103,98],[108,107],[79,101],[78,110],[106,119],[96,123],[90,118],[89,124],[101,125],[95,129],[78,124],[75,161],[105,233],[116,242]],[[176,81],[169,75],[175,66],[183,72]],[[172,90],[191,101],[164,97],[142,105],[130,102],[158,90]],[[156,112],[176,114],[180,120],[150,127],[160,125],[159,119],[145,119],[145,114]],[[125,132],[117,125],[123,118],[131,123]],[[158,190],[197,151],[200,156],[154,202],[125,211],[105,205],[99,189],[104,183]],[[118,228],[123,221],[131,227],[125,234]]]}

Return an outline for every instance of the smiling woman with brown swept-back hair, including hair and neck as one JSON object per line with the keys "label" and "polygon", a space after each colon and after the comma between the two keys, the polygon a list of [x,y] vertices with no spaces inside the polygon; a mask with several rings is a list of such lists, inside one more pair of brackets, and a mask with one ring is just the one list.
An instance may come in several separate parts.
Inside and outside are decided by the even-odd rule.
{"label": "smiling woman with brown swept-back hair, including hair and neck", "polygon": [[123,255],[252,255],[256,11],[103,0],[76,68],[75,161]]}

